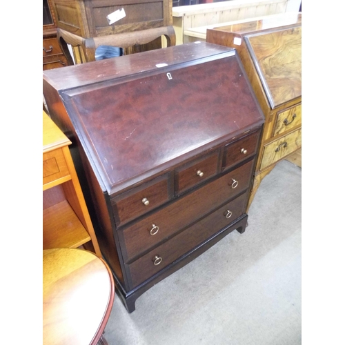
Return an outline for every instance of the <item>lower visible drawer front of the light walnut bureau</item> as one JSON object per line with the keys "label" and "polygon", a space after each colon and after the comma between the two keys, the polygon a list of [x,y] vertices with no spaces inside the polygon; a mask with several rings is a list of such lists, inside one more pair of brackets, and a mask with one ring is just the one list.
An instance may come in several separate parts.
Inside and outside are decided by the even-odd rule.
{"label": "lower visible drawer front of the light walnut bureau", "polygon": [[290,153],[302,147],[302,128],[290,132],[285,137],[277,139],[264,146],[264,155],[260,170],[283,159]]}

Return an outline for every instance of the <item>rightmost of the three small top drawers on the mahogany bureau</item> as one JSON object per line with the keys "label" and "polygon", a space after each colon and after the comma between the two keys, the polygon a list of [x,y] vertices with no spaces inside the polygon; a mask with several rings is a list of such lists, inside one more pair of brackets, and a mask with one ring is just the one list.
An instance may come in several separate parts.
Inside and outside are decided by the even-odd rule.
{"label": "rightmost of the three small top drawers on the mahogany bureau", "polygon": [[224,150],[224,168],[229,168],[234,164],[254,155],[257,151],[260,132],[254,132],[242,139],[229,144]]}

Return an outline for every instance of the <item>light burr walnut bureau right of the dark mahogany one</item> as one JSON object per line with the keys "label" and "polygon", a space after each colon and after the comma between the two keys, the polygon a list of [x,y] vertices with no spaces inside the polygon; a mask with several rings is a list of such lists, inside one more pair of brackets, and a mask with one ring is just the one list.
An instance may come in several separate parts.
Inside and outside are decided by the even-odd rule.
{"label": "light burr walnut bureau right of the dark mahogany one", "polygon": [[236,48],[266,118],[249,206],[277,162],[302,150],[302,13],[208,29],[206,41]]}

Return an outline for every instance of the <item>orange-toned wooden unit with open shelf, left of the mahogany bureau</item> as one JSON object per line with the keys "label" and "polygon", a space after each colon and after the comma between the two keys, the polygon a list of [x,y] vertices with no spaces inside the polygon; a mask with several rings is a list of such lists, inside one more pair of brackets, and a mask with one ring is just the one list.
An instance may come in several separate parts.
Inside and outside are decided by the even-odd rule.
{"label": "orange-toned wooden unit with open shelf, left of the mahogany bureau", "polygon": [[70,144],[43,111],[43,249],[83,246],[101,257]]}

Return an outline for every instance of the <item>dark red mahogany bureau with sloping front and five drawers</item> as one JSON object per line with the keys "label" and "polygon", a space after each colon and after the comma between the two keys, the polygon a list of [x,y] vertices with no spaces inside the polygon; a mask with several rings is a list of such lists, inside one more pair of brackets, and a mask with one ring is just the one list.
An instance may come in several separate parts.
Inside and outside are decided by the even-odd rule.
{"label": "dark red mahogany bureau with sloping front and five drawers", "polygon": [[264,115],[233,48],[189,43],[45,71],[43,94],[74,145],[128,312],[161,279],[244,232]]}

